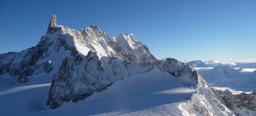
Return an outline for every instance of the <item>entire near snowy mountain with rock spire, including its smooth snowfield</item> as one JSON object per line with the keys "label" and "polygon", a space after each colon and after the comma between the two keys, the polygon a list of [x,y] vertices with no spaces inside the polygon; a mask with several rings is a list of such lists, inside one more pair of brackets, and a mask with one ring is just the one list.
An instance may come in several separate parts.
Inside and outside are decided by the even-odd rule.
{"label": "entire near snowy mountain with rock spire, including its smooth snowfield", "polygon": [[35,47],[0,54],[0,67],[3,115],[255,115],[227,105],[240,96],[220,97],[230,92],[188,64],[156,59],[133,34],[69,29],[55,15]]}

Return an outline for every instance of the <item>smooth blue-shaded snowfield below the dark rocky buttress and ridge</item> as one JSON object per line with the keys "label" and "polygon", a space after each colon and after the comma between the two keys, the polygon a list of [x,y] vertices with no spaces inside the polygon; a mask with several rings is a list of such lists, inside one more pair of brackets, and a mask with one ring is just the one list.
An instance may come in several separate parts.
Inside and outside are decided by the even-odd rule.
{"label": "smooth blue-shaded snowfield below the dark rocky buttress and ridge", "polygon": [[181,81],[154,69],[124,77],[83,101],[66,102],[54,110],[45,104],[50,84],[7,85],[0,92],[0,112],[1,115],[182,115],[178,106],[195,89],[184,86]]}

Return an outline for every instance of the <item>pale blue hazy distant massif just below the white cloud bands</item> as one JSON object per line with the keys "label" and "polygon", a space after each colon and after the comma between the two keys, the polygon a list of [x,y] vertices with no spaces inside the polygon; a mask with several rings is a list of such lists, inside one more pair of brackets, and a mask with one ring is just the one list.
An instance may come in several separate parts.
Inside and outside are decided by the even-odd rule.
{"label": "pale blue hazy distant massif just below the white cloud bands", "polygon": [[218,66],[206,71],[199,71],[204,79],[215,87],[229,87],[237,91],[249,92],[256,88],[256,69],[233,69],[229,66]]}

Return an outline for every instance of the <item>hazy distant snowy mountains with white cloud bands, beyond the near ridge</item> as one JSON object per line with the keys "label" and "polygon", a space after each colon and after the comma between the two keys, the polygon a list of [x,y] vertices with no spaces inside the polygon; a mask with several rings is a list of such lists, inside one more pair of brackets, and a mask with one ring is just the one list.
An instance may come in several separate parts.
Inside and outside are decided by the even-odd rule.
{"label": "hazy distant snowy mountains with white cloud bands, beyond the near ridge", "polygon": [[218,89],[228,88],[234,93],[250,92],[256,88],[255,60],[189,61],[207,83]]}

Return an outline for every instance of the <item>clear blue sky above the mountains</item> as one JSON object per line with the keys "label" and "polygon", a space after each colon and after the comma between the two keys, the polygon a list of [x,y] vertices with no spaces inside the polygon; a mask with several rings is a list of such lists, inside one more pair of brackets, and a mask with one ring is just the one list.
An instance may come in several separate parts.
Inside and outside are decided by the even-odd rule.
{"label": "clear blue sky above the mountains", "polygon": [[35,46],[57,24],[133,33],[158,59],[256,59],[256,1],[0,0],[0,53]]}

